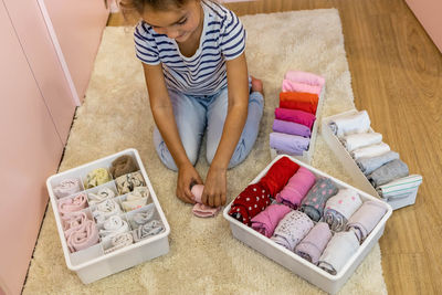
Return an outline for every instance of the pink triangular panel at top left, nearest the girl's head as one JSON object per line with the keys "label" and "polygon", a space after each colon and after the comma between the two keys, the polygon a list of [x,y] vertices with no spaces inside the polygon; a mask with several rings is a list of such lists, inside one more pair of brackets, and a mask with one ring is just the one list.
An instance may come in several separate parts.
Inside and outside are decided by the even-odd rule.
{"label": "pink triangular panel at top left, nearest the girl's head", "polygon": [[103,0],[41,0],[82,102],[98,51],[108,11]]}

